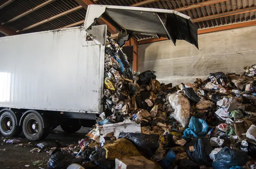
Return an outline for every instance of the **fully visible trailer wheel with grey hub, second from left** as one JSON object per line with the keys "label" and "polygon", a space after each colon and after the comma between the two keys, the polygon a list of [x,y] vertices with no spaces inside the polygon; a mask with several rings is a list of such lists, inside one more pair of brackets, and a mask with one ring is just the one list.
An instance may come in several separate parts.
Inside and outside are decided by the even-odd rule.
{"label": "fully visible trailer wheel with grey hub, second from left", "polygon": [[49,124],[39,113],[29,113],[23,121],[23,132],[32,141],[43,140],[50,131]]}

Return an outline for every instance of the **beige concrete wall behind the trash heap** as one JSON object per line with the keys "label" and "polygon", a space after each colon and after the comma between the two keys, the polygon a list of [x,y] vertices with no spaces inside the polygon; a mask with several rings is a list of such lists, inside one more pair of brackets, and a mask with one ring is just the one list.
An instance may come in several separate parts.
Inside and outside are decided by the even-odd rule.
{"label": "beige concrete wall behind the trash heap", "polygon": [[256,26],[198,35],[199,50],[186,41],[139,45],[139,71],[156,71],[160,82],[178,85],[209,73],[243,73],[256,64]]}

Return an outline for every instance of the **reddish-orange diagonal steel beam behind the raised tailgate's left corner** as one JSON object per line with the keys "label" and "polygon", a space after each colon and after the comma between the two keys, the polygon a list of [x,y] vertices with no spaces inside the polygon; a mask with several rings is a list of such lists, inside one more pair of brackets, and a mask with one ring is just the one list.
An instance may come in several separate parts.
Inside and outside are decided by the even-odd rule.
{"label": "reddish-orange diagonal steel beam behind the raised tailgate's left corner", "polygon": [[[91,4],[96,4],[94,3],[94,1],[92,0],[76,0],[77,3],[79,3],[79,5],[81,5],[84,9],[87,10],[88,8],[88,5],[91,5]],[[100,19],[97,20],[100,24],[104,25],[106,24],[108,26],[108,31],[111,33],[111,34],[116,34],[116,28],[111,25],[107,20],[105,20],[103,17],[101,17]]]}

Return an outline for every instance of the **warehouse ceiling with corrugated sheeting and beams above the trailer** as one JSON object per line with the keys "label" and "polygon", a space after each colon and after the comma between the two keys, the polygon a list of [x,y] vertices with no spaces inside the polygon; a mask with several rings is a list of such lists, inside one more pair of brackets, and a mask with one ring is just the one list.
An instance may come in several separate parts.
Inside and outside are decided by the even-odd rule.
{"label": "warehouse ceiling with corrugated sheeting and beams above the trailer", "polygon": [[[256,0],[0,0],[0,37],[82,25],[87,5],[93,3],[176,10],[192,18],[199,34],[225,30],[225,25],[256,25]],[[98,21],[97,25],[107,22]]]}

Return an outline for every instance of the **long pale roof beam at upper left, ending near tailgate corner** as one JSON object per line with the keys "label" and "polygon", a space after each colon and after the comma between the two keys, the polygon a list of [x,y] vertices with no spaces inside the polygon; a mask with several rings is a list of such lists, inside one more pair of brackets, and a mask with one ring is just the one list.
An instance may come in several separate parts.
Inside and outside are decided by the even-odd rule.
{"label": "long pale roof beam at upper left, ending near tailgate corner", "polygon": [[40,21],[40,22],[38,22],[38,23],[35,23],[35,24],[30,25],[30,26],[28,26],[28,27],[26,27],[26,28],[23,28],[23,29],[21,29],[21,30],[19,30],[19,31],[17,31],[17,32],[26,31],[26,30],[31,29],[31,28],[34,28],[34,27],[36,27],[36,26],[38,26],[38,25],[42,25],[42,24],[44,24],[44,23],[47,23],[47,22],[49,22],[49,21],[51,21],[51,20],[55,20],[55,19],[57,19],[57,18],[59,18],[59,17],[63,17],[64,15],[70,14],[70,13],[72,13],[72,12],[74,12],[74,11],[77,11],[77,10],[79,10],[79,9],[81,9],[81,8],[83,8],[83,7],[82,7],[82,6],[77,6],[77,7],[75,7],[75,8],[70,9],[70,10],[64,11],[64,12],[62,12],[62,13],[60,13],[60,14],[54,15],[53,17],[49,17],[49,18],[47,18],[46,20],[42,20],[42,21]]}

